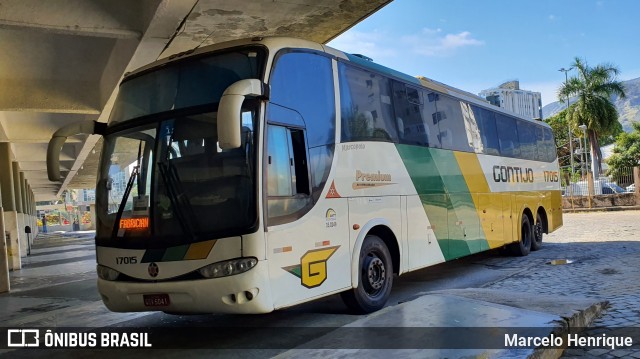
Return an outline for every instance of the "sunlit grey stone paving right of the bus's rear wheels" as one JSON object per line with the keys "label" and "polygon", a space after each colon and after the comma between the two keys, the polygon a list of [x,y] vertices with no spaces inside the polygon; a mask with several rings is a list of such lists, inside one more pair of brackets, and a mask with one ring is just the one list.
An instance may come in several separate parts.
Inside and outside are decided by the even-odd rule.
{"label": "sunlit grey stone paving right of the bus's rear wheels", "polygon": [[[523,259],[531,270],[485,287],[608,300],[609,309],[587,335],[640,327],[640,211],[566,214],[564,219],[564,226],[545,238],[543,250]],[[547,264],[552,259],[573,263]],[[563,357],[582,356],[640,358],[640,343],[632,350],[568,349]]]}

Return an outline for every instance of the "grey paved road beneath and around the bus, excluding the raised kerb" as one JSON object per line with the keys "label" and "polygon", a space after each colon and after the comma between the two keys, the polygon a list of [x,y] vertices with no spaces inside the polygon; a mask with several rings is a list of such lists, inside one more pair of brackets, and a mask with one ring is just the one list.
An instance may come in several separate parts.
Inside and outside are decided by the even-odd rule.
{"label": "grey paved road beneath and around the bus, excluding the raised kerb", "polygon": [[[638,233],[638,211],[567,214],[564,227],[545,237],[542,250],[524,258],[483,253],[403,275],[394,283],[389,305],[409,301],[434,290],[456,288],[587,296],[607,299],[611,303],[609,310],[594,325],[640,327]],[[224,323],[239,327],[336,327],[361,318],[348,314],[338,296],[259,316],[110,313],[104,309],[95,291],[95,260],[89,238],[90,235],[80,236],[63,247],[42,242],[42,247],[34,250],[34,256],[29,258],[25,269],[12,275],[14,292],[0,295],[1,319],[7,325],[38,323],[42,326],[192,327]],[[548,264],[553,259],[573,262],[557,266]],[[64,273],[60,272],[61,267]],[[603,329],[596,328],[592,333],[598,330]],[[252,340],[260,341],[261,338]],[[242,352],[241,355],[264,357],[280,352],[264,349]],[[154,355],[172,357],[177,354],[206,356],[213,353],[166,351]],[[239,355],[232,350],[224,354]],[[65,354],[60,355],[64,357]],[[131,357],[134,355],[131,353]],[[565,357],[584,355],[640,358],[640,349],[569,349],[565,352]],[[51,357],[51,353],[47,356]]]}

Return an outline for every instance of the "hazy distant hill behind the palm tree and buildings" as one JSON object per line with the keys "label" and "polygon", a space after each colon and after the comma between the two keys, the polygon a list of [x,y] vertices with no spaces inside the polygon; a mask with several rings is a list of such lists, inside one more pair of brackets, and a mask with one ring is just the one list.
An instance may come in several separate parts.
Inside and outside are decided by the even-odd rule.
{"label": "hazy distant hill behind the palm tree and buildings", "polygon": [[[623,81],[627,97],[624,99],[613,96],[611,99],[618,110],[619,121],[622,128],[630,132],[631,121],[640,121],[640,77],[637,79]],[[571,100],[573,103],[573,99]],[[566,102],[556,101],[542,108],[542,117],[549,118],[562,111],[566,107]]]}

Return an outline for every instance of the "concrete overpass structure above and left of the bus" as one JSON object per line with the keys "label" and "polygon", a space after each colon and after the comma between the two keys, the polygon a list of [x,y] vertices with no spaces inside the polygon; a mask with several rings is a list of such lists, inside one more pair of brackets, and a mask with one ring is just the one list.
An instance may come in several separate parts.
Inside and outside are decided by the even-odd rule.
{"label": "concrete overpass structure above and left of the bus", "polygon": [[59,182],[47,179],[47,143],[66,124],[107,122],[125,72],[235,38],[325,43],[390,1],[0,0],[0,218],[9,268],[26,255],[24,225],[37,228],[36,201],[95,186],[98,136],[69,138]]}

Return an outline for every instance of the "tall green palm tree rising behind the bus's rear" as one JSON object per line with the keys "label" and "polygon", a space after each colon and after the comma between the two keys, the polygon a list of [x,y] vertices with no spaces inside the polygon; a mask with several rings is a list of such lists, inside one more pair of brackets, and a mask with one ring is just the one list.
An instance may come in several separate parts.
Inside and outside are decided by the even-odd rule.
{"label": "tall green palm tree rising behind the bus's rear", "polygon": [[578,70],[578,76],[564,83],[558,90],[558,96],[577,98],[569,106],[567,119],[573,128],[581,124],[587,126],[591,158],[595,160],[594,175],[599,176],[602,172],[602,152],[598,139],[615,132],[618,127],[618,111],[611,102],[611,95],[625,97],[624,86],[616,79],[620,70],[611,64],[590,67],[578,57],[571,66]]}

